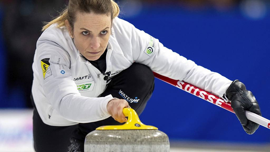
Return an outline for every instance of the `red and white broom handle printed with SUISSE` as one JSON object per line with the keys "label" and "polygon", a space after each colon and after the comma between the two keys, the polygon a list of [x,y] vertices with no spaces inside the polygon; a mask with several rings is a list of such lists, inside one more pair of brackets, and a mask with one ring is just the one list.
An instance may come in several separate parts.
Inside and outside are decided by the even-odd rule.
{"label": "red and white broom handle printed with SUISSE", "polygon": [[[179,80],[173,80],[171,78],[165,77],[163,75],[157,74],[156,72],[153,72],[154,76],[164,82],[167,82],[168,84],[173,85],[174,87],[177,87],[179,89],[182,89],[188,93],[191,93],[197,97],[200,97],[212,104],[215,104],[223,109],[226,109],[228,111],[231,111],[232,113],[234,113],[234,110],[231,107],[231,103],[226,103],[223,99],[219,98],[218,96],[211,94],[205,90],[202,90],[198,87],[195,87],[194,85],[191,85],[187,82],[184,81],[179,81]],[[253,121],[259,125],[262,125],[266,128],[270,129],[270,120],[259,116],[255,113],[252,113],[250,111],[246,110],[246,116],[248,118],[248,120]]]}

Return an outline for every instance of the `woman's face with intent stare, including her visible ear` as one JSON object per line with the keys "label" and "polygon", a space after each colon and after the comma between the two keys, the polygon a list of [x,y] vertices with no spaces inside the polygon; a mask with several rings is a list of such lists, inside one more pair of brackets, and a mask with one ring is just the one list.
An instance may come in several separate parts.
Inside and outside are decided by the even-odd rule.
{"label": "woman's face with intent stare, including her visible ear", "polygon": [[66,21],[76,48],[90,61],[99,59],[104,53],[111,34],[111,24],[109,15],[82,12],[76,14],[73,31]]}

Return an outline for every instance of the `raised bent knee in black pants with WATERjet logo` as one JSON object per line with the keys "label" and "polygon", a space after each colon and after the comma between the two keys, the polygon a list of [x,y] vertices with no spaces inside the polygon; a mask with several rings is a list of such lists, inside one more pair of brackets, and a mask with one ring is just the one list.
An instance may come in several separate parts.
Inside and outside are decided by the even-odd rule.
{"label": "raised bent knee in black pants with WATERjet logo", "polygon": [[114,76],[107,89],[101,94],[124,99],[140,115],[154,90],[154,74],[149,67],[133,63],[129,68]]}

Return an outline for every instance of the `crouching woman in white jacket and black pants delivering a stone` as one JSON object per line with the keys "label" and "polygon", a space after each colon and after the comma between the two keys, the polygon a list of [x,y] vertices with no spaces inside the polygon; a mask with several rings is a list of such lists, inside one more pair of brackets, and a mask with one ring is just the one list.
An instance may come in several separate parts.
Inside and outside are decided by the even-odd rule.
{"label": "crouching woman in white jacket and black pants delivering a stone", "polygon": [[113,0],[70,0],[43,27],[33,62],[36,151],[83,151],[87,133],[127,121],[123,108],[142,113],[154,88],[152,71],[231,101],[244,130],[257,130],[245,110],[261,112],[244,84],[196,65],[118,14]]}

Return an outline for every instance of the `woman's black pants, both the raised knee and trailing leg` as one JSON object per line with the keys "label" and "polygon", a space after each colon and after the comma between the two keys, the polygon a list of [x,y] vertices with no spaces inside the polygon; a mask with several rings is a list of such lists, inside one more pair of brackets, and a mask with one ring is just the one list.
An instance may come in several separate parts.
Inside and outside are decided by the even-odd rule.
{"label": "woman's black pants, both the raised knee and trailing leg", "polygon": [[[133,63],[129,68],[111,78],[106,90],[100,97],[111,94],[113,97],[125,99],[129,102],[130,107],[140,115],[150,99],[153,89],[154,75],[151,69],[146,65]],[[138,102],[132,102],[134,99]],[[120,124],[109,117],[92,123],[80,123],[64,127],[50,126],[42,122],[34,103],[33,106],[34,148],[37,152],[66,152],[71,136],[84,141],[85,136],[99,126]]]}

